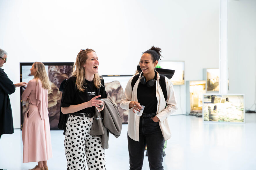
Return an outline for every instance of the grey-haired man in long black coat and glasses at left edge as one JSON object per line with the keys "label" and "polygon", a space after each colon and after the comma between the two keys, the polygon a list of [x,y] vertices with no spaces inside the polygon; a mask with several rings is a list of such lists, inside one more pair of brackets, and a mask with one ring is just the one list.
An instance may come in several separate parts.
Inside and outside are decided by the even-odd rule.
{"label": "grey-haired man in long black coat and glasses at left edge", "polygon": [[[6,63],[7,52],[0,48],[0,67]],[[26,86],[21,82],[13,84],[7,74],[0,68],[0,138],[2,134],[13,134],[13,114],[9,94],[15,92],[15,87]]]}

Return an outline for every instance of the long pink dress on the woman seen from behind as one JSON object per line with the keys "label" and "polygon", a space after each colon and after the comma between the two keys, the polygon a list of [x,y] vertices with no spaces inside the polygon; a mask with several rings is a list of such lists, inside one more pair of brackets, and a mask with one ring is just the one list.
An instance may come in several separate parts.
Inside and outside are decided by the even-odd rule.
{"label": "long pink dress on the woman seen from behind", "polygon": [[22,100],[29,96],[29,108],[24,115],[22,128],[23,163],[46,161],[52,157],[51,134],[48,117],[48,90],[40,79],[29,81]]}

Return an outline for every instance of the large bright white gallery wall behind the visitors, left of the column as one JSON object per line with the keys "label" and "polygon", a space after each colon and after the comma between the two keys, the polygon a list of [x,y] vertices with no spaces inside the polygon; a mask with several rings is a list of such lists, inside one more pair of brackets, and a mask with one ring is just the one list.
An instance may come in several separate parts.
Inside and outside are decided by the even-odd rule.
{"label": "large bright white gallery wall behind the visitors, left of the column", "polygon": [[[82,48],[96,50],[99,74],[134,74],[152,45],[161,47],[163,60],[185,61],[185,81],[202,80],[203,68],[218,67],[216,0],[0,0],[0,23],[0,48],[8,52],[2,68],[14,83],[20,62],[74,62]],[[185,85],[174,89],[177,114],[185,114]],[[19,88],[10,100],[19,128]]]}

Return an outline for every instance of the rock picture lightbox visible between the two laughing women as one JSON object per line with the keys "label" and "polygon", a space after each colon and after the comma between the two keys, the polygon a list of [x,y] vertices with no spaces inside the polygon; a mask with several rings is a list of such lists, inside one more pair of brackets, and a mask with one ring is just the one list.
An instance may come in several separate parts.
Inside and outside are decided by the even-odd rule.
{"label": "rock picture lightbox visible between the two laughing women", "polygon": [[117,107],[123,123],[128,123],[129,110],[120,107],[120,100],[125,92],[125,87],[133,75],[102,75],[105,83],[106,93]]}

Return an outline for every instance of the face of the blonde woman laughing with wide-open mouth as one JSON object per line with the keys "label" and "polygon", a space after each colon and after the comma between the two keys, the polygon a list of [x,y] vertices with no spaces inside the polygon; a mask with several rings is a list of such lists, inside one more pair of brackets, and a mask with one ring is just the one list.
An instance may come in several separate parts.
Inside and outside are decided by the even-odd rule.
{"label": "face of the blonde woman laughing with wide-open mouth", "polygon": [[86,63],[83,65],[83,67],[85,69],[85,74],[93,75],[99,72],[99,61],[95,52],[90,52],[87,54]]}

